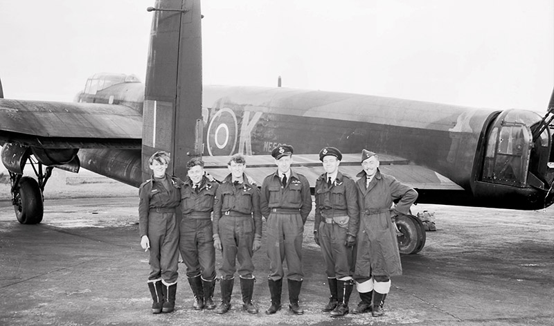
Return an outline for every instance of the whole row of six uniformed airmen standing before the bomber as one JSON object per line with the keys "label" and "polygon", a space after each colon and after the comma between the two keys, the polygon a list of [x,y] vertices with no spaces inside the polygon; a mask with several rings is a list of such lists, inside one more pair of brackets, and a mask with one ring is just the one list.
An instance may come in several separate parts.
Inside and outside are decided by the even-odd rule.
{"label": "whole row of six uniformed airmen standing before the bomber", "polygon": [[[229,311],[238,272],[242,307],[257,314],[258,307],[252,302],[256,280],[252,257],[262,246],[262,216],[267,221],[271,296],[265,313],[276,314],[281,309],[285,276],[289,310],[296,315],[304,313],[299,305],[304,278],[302,244],[312,197],[305,176],[291,167],[293,152],[286,144],[271,151],[277,169],[265,177],[260,190],[244,173],[242,154],[231,156],[231,173],[221,183],[204,172],[202,159],[188,161],[187,179],[181,181],[166,174],[168,153],[150,157],[152,178],[139,189],[139,230],[141,246],[150,249],[152,313],[175,309],[180,252],[195,296],[194,309],[215,309],[218,314]],[[322,310],[332,317],[349,312],[383,316],[391,276],[402,273],[394,219],[409,214],[418,193],[382,174],[377,154],[368,150],[361,152],[363,170],[357,181],[339,171],[342,154],[336,147],[323,147],[319,159],[325,173],[314,189],[314,241],[321,247],[331,295]],[[213,302],[215,249],[222,251],[222,302],[217,309]],[[354,284],[361,301],[350,311]]]}

